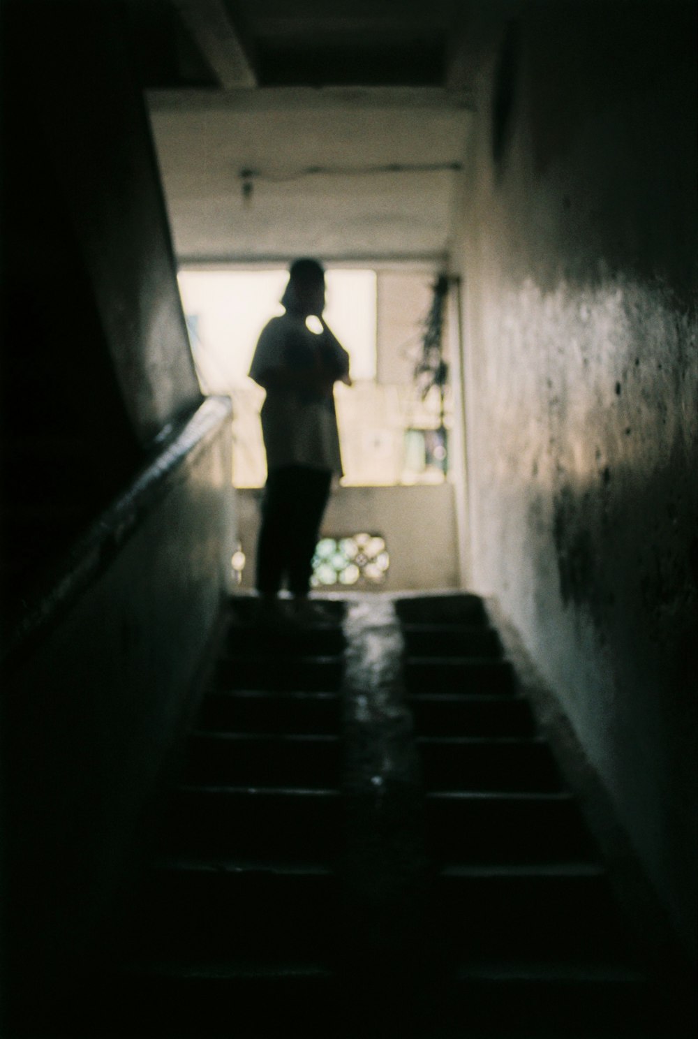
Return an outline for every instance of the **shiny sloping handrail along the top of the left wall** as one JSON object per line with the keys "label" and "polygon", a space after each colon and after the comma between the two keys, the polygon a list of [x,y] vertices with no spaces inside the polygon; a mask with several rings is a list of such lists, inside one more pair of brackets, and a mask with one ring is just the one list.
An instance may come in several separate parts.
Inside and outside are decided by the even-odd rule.
{"label": "shiny sloping handrail along the top of the left wall", "polygon": [[[43,582],[43,590],[9,632],[0,650],[3,665],[24,656],[53,627],[118,553],[165,495],[184,467],[196,458],[232,411],[230,397],[207,397],[179,428],[167,427],[160,450],[129,487],[79,537]],[[164,446],[163,446],[164,444]]]}

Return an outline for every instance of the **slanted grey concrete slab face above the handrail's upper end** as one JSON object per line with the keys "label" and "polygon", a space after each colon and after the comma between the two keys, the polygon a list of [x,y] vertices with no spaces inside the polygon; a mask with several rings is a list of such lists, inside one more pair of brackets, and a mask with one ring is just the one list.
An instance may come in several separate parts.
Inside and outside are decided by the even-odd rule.
{"label": "slanted grey concrete slab face above the handrail's upper end", "polygon": [[123,5],[64,6],[50,4],[33,34],[38,107],[106,346],[147,442],[200,400],[155,149]]}

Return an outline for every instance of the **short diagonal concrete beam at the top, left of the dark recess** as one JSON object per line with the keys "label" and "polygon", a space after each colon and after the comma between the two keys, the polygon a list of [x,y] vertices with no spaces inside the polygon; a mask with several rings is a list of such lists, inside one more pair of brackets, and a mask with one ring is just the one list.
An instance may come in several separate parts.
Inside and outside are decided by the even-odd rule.
{"label": "short diagonal concrete beam at the top, left of the dark recess", "polygon": [[251,47],[223,0],[171,0],[216,79],[225,90],[257,86]]}

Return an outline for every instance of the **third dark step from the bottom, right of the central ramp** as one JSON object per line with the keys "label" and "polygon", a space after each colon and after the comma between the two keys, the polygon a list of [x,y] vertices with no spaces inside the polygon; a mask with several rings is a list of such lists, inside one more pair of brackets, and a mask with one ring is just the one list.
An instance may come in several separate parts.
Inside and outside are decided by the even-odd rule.
{"label": "third dark step from the bottom, right of the central ramp", "polygon": [[431,793],[425,812],[427,853],[441,864],[595,857],[566,793]]}

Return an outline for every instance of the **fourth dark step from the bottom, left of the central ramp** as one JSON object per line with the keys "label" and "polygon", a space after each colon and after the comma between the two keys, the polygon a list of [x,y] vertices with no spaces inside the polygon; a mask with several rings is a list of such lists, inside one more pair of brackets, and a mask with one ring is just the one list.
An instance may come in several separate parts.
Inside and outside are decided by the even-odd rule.
{"label": "fourth dark step from the bottom, left of the central ramp", "polygon": [[335,736],[194,732],[187,743],[187,782],[251,787],[339,788],[342,745]]}

